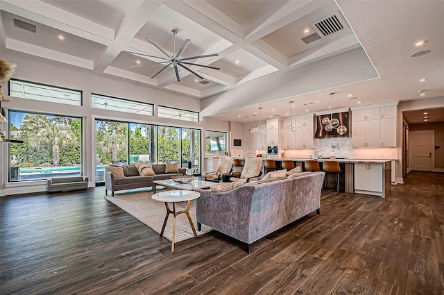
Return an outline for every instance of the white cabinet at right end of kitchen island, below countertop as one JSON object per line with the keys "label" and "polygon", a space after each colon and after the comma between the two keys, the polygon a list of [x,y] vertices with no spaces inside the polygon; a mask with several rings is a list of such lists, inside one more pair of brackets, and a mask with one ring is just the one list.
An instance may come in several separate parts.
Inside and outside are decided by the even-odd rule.
{"label": "white cabinet at right end of kitchen island, below countertop", "polygon": [[355,193],[382,196],[383,172],[382,163],[355,163]]}

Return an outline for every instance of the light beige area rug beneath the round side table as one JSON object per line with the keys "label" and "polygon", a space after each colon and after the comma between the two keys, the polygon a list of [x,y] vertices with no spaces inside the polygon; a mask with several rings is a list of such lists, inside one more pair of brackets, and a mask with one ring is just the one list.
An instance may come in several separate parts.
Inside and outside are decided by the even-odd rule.
{"label": "light beige area rug beneath the round side table", "polygon": [[[105,196],[105,199],[114,205],[117,205],[123,211],[133,215],[133,217],[139,219],[139,221],[146,224],[146,226],[149,226],[156,233],[160,234],[160,230],[162,230],[162,225],[164,224],[165,215],[167,214],[167,208],[165,208],[163,202],[154,201],[151,199],[152,195],[152,191],[128,192],[126,194],[122,193],[115,194],[114,196]],[[202,230],[197,230],[196,207],[194,204],[195,201],[193,201],[191,208],[189,208],[189,215],[193,220],[196,233],[198,235],[203,235],[212,230],[212,228],[203,224]],[[176,211],[184,209],[185,205],[187,205],[186,202],[176,203]],[[171,203],[169,204],[169,208],[173,208]],[[170,214],[169,216],[163,236],[171,241],[171,237],[173,236],[173,214]],[[180,242],[191,237],[194,237],[194,234],[193,230],[191,230],[191,227],[189,226],[189,221],[186,214],[179,214],[176,217],[175,242]]]}

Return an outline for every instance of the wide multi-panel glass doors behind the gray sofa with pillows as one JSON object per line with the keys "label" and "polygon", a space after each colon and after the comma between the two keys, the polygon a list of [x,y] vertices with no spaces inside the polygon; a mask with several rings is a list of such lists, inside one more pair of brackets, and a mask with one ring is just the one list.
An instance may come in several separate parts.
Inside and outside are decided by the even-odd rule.
{"label": "wide multi-panel glass doors behind the gray sofa with pillows", "polygon": [[200,174],[200,130],[96,120],[96,183],[104,165],[179,162]]}

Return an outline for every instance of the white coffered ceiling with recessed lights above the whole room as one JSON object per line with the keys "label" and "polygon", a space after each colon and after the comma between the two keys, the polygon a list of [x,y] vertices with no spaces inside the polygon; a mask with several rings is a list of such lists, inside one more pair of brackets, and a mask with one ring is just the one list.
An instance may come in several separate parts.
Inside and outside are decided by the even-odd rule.
{"label": "white coffered ceiling with recessed lights above the whole room", "polygon": [[[289,101],[293,115],[329,110],[330,92],[334,108],[444,96],[444,1],[0,0],[0,9],[2,51],[203,99],[205,115],[225,120],[257,121],[259,107],[285,116]],[[314,24],[330,17],[342,28],[323,35]],[[218,53],[188,61],[220,70],[187,65],[203,81],[180,68],[178,82],[173,67],[151,78],[164,65],[150,56],[165,56],[146,37],[169,56],[189,39],[182,57]],[[292,78],[307,87],[268,90]],[[268,95],[240,96],[262,85]]]}

